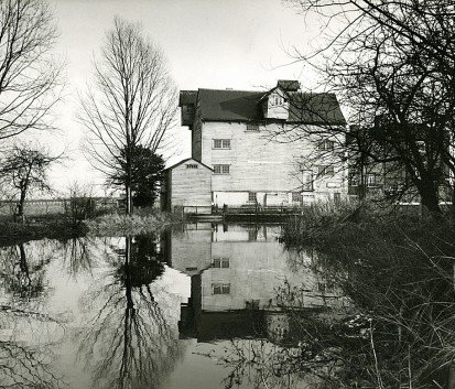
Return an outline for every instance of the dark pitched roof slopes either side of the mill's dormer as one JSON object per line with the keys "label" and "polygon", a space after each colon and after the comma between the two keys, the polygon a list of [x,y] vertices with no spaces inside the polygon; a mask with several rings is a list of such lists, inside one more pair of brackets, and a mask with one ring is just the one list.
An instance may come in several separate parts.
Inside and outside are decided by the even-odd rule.
{"label": "dark pitched roof slopes either side of the mill's dormer", "polygon": [[[199,89],[197,99],[203,120],[264,120],[261,99],[269,93],[230,89]],[[288,93],[290,122],[306,125],[345,125],[335,94]]]}

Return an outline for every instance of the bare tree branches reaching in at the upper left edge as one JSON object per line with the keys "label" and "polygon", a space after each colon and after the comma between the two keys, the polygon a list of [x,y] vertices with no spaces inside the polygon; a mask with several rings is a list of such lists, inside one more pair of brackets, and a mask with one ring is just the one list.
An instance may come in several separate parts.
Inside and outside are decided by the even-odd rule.
{"label": "bare tree branches reaching in at the upper left edge", "polygon": [[61,69],[51,56],[57,36],[43,0],[0,3],[0,140],[48,129]]}

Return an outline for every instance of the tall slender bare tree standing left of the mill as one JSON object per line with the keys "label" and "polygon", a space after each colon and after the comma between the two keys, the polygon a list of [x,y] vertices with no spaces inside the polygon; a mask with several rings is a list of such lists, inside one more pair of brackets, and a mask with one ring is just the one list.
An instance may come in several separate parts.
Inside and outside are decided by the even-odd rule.
{"label": "tall slender bare tree standing left of the mill", "polygon": [[175,119],[176,89],[161,50],[139,26],[119,18],[94,66],[96,90],[80,98],[79,121],[87,129],[93,164],[107,183],[122,169],[129,214],[134,150],[160,149]]}

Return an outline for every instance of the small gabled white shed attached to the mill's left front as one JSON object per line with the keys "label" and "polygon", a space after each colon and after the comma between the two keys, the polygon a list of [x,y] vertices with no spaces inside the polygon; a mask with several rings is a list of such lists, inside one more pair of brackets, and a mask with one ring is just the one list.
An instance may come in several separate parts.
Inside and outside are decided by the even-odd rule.
{"label": "small gabled white shed attached to the mill's left front", "polygon": [[212,213],[213,169],[192,158],[164,170],[161,204],[164,210]]}

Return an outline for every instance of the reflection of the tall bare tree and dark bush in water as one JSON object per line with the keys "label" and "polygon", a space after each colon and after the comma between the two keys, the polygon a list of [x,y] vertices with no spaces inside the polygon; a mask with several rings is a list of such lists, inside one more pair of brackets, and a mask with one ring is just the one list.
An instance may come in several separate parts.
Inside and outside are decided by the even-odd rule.
{"label": "reflection of the tall bare tree and dark bush in water", "polygon": [[[109,281],[87,291],[91,315],[80,334],[79,356],[96,388],[159,388],[178,355],[176,328],[155,301],[153,281],[164,271],[150,237],[124,238],[107,260]],[[91,303],[89,303],[91,301]]]}

